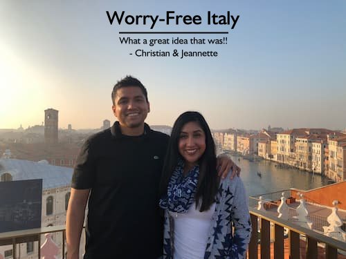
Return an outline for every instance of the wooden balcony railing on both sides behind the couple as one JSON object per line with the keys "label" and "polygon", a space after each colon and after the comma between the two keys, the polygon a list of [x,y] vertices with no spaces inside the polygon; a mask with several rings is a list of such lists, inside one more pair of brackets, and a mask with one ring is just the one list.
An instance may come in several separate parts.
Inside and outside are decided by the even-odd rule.
{"label": "wooden balcony railing on both sides behind the couple", "polygon": [[[338,252],[346,252],[346,243],[329,238],[321,233],[300,227],[287,220],[275,217],[272,213],[257,211],[250,208],[253,235],[248,247],[248,258],[346,258]],[[288,231],[288,236],[284,232]],[[62,233],[58,244],[46,235],[41,245],[42,235],[47,233]],[[13,255],[19,258],[17,245],[24,242],[38,242],[38,254],[34,258],[53,258],[52,255],[65,257],[65,226],[44,227],[26,231],[13,231],[0,233],[0,246],[12,245]],[[55,240],[57,242],[58,240]],[[53,243],[52,243],[53,242]],[[57,247],[61,247],[58,252]],[[286,248],[285,248],[286,247]],[[321,257],[322,255],[322,257]],[[339,256],[339,257],[338,257]],[[0,255],[1,258],[1,255]]]}

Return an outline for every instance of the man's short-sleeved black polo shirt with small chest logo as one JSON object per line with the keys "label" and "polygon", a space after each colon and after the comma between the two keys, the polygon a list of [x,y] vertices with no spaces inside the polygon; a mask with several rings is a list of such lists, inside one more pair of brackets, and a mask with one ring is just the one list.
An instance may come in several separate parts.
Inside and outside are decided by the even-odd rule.
{"label": "man's short-sleeved black polo shirt with small chest logo", "polygon": [[163,222],[158,185],[169,136],[122,135],[118,122],[89,137],[73,172],[74,189],[91,189],[85,258],[158,258]]}

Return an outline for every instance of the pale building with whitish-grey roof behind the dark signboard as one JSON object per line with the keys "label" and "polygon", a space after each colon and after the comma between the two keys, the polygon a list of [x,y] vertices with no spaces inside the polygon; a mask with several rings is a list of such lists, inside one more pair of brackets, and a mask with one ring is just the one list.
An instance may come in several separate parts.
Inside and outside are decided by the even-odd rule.
{"label": "pale building with whitish-grey roof behind the dark signboard", "polygon": [[[42,179],[42,220],[41,227],[64,225],[66,211],[71,195],[72,169],[52,166],[46,162],[32,162],[0,158],[0,181]],[[53,233],[53,241],[59,247],[57,258],[62,258],[62,233]],[[41,244],[44,243],[44,235]],[[81,249],[84,249],[84,235]],[[27,242],[18,245],[16,258],[38,258],[38,242]],[[66,247],[66,246],[65,246]],[[82,253],[81,253],[82,254]],[[3,258],[12,258],[12,245],[0,246]],[[12,255],[12,256],[10,256]]]}

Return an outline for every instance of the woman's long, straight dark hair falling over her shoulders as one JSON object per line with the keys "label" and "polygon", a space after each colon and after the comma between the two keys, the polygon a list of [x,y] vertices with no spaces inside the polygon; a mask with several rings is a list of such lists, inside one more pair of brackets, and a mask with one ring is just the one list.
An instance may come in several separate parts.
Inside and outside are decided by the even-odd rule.
{"label": "woman's long, straight dark hair falling over her shoulders", "polygon": [[188,122],[197,122],[206,135],[206,151],[204,151],[199,159],[199,179],[194,199],[196,201],[196,208],[199,206],[200,200],[202,202],[199,211],[208,211],[210,206],[215,202],[215,196],[219,186],[219,178],[216,173],[215,143],[206,119],[204,119],[201,113],[196,111],[187,111],[181,114],[174,122],[165,163],[163,164],[160,195],[161,197],[167,195],[168,182],[178,164],[179,157],[184,160],[179,153],[178,145],[181,129]]}

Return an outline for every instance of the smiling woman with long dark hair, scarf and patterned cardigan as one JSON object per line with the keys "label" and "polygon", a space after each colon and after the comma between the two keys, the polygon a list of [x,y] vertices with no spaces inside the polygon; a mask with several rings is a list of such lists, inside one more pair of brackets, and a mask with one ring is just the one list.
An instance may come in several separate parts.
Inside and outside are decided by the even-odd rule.
{"label": "smiling woman with long dark hair, scarf and patterned cardigan", "polygon": [[194,111],[181,114],[172,128],[160,186],[163,258],[244,258],[251,236],[244,185],[237,177],[220,182],[215,168],[206,120]]}

